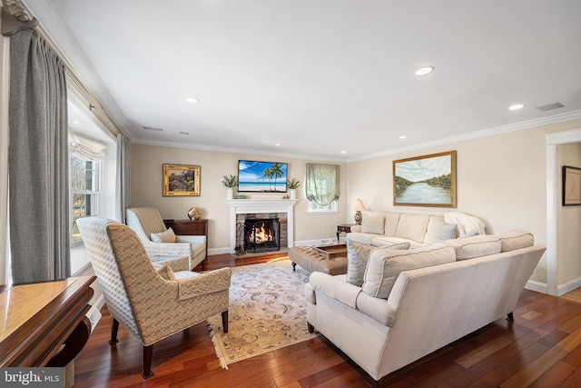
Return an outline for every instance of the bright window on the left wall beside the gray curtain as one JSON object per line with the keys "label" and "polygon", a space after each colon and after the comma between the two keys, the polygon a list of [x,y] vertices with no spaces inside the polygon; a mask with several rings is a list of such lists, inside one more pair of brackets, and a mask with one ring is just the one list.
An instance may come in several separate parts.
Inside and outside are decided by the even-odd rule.
{"label": "bright window on the left wall beside the gray curtain", "polygon": [[73,209],[73,232],[71,240],[81,241],[76,226],[78,218],[99,214],[99,161],[85,160],[77,154],[71,155],[71,203]]}

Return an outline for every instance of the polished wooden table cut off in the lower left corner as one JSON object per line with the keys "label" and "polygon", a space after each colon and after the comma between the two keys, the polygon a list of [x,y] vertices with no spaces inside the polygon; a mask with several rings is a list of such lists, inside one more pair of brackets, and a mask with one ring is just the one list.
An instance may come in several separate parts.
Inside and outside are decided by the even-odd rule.
{"label": "polished wooden table cut off in the lower left corner", "polygon": [[70,363],[91,334],[85,314],[95,279],[0,286],[0,367]]}

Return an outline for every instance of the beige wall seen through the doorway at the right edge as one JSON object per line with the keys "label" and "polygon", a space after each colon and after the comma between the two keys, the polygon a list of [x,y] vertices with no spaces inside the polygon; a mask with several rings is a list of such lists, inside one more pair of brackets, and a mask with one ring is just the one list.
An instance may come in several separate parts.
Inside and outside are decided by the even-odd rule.
{"label": "beige wall seen through the doorway at the right edge", "polygon": [[581,206],[563,206],[563,165],[581,168],[581,143],[558,145],[556,148],[557,187],[559,197],[557,219],[557,284],[566,284],[581,276]]}

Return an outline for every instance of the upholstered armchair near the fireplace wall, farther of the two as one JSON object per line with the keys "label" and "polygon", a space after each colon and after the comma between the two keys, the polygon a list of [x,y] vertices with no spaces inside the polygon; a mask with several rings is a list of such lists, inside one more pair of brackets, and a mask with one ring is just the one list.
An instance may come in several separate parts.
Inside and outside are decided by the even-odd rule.
{"label": "upholstered armchair near the fireplace wall, farther of the two", "polygon": [[[166,263],[180,256],[189,256],[190,269],[202,263],[206,258],[205,235],[176,235],[175,243],[155,243],[152,234],[161,234],[167,231],[163,224],[162,215],[153,207],[133,207],[125,211],[126,223],[132,228],[142,241],[145,251],[153,262]],[[175,270],[175,266],[167,263]]]}

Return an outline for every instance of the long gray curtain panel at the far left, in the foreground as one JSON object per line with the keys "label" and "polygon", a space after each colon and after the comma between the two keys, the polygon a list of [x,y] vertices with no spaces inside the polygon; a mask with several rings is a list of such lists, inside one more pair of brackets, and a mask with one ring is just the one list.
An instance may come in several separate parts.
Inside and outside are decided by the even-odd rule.
{"label": "long gray curtain panel at the far left, in the foreground", "polygon": [[8,179],[14,283],[71,275],[64,64],[34,30],[10,37]]}

